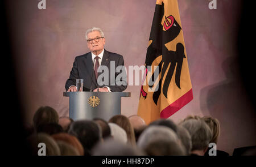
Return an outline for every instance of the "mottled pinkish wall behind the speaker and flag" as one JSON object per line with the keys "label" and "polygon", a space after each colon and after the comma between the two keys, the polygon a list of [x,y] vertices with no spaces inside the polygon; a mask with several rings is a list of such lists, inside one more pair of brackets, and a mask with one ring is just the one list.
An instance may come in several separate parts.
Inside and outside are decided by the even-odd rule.
{"label": "mottled pinkish wall behind the speaker and flag", "polygon": [[[105,49],[122,54],[126,67],[144,64],[155,0],[46,1],[39,10],[34,0],[9,1],[11,25],[25,121],[40,106],[49,105],[60,116],[68,115],[65,81],[75,56],[89,52],[85,31],[100,27]],[[217,1],[209,10],[207,0],[179,0],[194,99],[170,119],[211,115],[221,123],[217,149],[256,145],[255,113],[238,75],[237,27],[241,1]],[[122,114],[137,113],[140,86],[128,86]]]}

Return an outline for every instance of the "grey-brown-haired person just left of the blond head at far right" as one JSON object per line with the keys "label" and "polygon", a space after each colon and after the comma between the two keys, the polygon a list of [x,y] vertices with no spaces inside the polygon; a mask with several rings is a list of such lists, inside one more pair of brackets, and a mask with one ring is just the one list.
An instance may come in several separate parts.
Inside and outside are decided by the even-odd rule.
{"label": "grey-brown-haired person just left of the blond head at far right", "polygon": [[191,135],[191,155],[203,156],[208,149],[210,140],[212,139],[212,131],[207,123],[201,119],[188,119],[180,125],[185,127]]}

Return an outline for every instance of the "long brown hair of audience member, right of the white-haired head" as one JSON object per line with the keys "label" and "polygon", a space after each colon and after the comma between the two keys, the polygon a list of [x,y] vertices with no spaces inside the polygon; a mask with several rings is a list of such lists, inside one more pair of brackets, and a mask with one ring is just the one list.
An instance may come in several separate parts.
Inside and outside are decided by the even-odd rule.
{"label": "long brown hair of audience member, right of the white-haired head", "polygon": [[134,147],[136,146],[134,130],[131,122],[129,121],[129,118],[125,117],[125,115],[114,115],[109,119],[109,122],[115,123],[122,127],[122,129],[124,129],[127,134],[127,143],[133,145]]}

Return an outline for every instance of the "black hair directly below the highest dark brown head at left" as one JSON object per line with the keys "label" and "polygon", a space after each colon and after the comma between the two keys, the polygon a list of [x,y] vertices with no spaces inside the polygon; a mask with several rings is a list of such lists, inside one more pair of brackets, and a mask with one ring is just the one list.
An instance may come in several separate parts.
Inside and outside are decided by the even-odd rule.
{"label": "black hair directly below the highest dark brown head at left", "polygon": [[64,132],[63,128],[57,123],[41,123],[37,128],[36,132],[44,132],[48,135],[58,134]]}

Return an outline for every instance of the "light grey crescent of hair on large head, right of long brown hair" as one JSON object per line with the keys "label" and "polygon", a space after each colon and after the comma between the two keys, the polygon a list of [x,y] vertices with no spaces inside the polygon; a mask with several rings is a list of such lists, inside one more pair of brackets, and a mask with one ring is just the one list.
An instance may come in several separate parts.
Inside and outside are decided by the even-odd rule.
{"label": "light grey crescent of hair on large head, right of long brown hair", "polygon": [[138,147],[141,149],[146,148],[146,146],[155,140],[168,140],[177,142],[179,140],[176,133],[166,126],[152,125],[145,129],[138,139]]}

